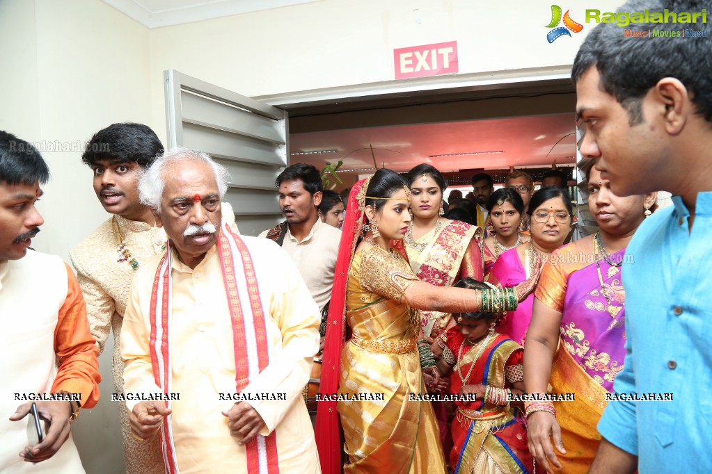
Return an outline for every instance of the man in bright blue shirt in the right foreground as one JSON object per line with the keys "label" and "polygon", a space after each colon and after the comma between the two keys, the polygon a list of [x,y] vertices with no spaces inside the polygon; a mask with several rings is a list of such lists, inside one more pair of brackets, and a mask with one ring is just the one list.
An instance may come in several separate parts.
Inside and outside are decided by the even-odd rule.
{"label": "man in bright blue shirt in the right foreground", "polygon": [[[616,18],[673,12],[677,23],[601,23],[573,66],[582,155],[597,159],[616,195],[674,195],[674,207],[646,220],[627,249],[634,259],[623,271],[627,355],[614,384],[617,394],[671,393],[672,400],[610,401],[593,474],[712,470],[705,468],[712,464],[711,7],[709,0],[629,1]],[[683,29],[679,38],[652,34]]]}

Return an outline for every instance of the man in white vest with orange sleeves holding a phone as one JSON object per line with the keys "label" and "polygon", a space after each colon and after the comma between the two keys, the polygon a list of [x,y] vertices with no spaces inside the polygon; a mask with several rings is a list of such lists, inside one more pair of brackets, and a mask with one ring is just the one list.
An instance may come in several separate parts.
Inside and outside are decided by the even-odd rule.
{"label": "man in white vest with orange sleeves holding a phone", "polygon": [[[3,473],[83,473],[70,423],[80,407],[99,399],[98,350],[77,280],[59,257],[28,251],[44,222],[35,205],[48,179],[39,151],[0,131]],[[19,405],[18,399],[35,400],[39,416],[50,422],[40,443],[28,446],[32,402]]]}

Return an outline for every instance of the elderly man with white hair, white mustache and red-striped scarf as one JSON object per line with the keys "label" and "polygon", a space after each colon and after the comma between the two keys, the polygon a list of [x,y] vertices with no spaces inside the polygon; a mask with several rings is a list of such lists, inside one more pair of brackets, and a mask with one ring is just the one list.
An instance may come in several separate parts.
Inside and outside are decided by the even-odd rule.
{"label": "elderly man with white hair, white mustache and red-striped scarf", "polygon": [[301,392],[319,311],[278,245],[221,224],[226,188],[225,169],[188,149],[140,179],[168,244],[138,269],[124,314],[131,429],[160,436],[168,473],[318,473]]}

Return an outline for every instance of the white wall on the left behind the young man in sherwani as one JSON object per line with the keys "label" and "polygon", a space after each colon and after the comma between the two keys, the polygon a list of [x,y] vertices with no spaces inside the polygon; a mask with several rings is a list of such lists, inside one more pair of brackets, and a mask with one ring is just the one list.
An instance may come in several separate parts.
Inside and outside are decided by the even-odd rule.
{"label": "white wall on the left behind the young man in sherwani", "polygon": [[[40,144],[52,174],[33,247],[69,250],[108,215],[81,149],[113,122],[151,124],[150,31],[97,0],[1,0],[0,129]],[[162,120],[158,126],[164,129]],[[56,149],[67,151],[52,151]],[[73,433],[88,473],[123,473],[111,375],[112,340],[100,357],[102,399]]]}

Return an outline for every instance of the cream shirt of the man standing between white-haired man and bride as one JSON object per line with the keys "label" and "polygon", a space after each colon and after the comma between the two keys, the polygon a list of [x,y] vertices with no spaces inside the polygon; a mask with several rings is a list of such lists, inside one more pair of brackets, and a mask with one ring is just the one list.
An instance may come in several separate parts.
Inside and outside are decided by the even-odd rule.
{"label": "cream shirt of the man standing between white-haired man and bride", "polygon": [[[267,232],[268,230],[262,232],[260,237],[265,237]],[[331,299],[340,239],[340,230],[317,219],[309,235],[301,242],[294,238],[289,229],[282,242],[282,248],[297,265],[320,310]]]}

